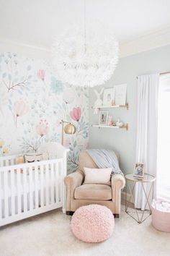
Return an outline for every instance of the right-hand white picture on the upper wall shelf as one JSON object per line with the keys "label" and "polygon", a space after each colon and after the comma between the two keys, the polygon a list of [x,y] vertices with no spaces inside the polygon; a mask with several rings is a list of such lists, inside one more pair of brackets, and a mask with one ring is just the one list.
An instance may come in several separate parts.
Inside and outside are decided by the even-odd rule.
{"label": "right-hand white picture on the upper wall shelf", "polygon": [[115,85],[115,105],[126,105],[127,84]]}

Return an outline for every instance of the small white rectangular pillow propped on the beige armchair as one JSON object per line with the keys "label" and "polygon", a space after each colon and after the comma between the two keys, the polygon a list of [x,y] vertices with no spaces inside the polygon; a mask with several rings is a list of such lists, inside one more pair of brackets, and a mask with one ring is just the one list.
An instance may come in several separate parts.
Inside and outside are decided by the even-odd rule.
{"label": "small white rectangular pillow propped on the beige armchair", "polygon": [[112,168],[86,168],[84,167],[84,184],[110,184]]}

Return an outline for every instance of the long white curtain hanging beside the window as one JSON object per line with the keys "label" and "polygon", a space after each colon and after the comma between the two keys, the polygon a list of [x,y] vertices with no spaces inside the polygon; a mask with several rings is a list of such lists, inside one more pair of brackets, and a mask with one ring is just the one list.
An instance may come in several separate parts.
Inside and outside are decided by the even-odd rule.
{"label": "long white curtain hanging beside the window", "polygon": [[[145,163],[145,172],[154,176],[157,155],[158,85],[159,74],[138,77],[136,162]],[[136,184],[135,208],[144,210],[145,205],[146,198],[142,187]]]}

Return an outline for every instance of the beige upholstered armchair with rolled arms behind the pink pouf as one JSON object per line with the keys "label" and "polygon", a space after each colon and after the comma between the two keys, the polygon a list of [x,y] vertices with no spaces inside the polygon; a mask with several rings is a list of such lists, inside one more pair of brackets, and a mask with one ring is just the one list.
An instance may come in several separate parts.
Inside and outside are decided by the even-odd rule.
{"label": "beige upholstered armchair with rolled arms behind the pink pouf", "polygon": [[84,167],[99,168],[86,151],[79,155],[78,171],[69,174],[64,179],[66,184],[66,214],[72,215],[77,208],[83,205],[99,204],[107,206],[118,218],[121,189],[125,187],[125,178],[121,174],[115,174],[109,185],[83,184]]}

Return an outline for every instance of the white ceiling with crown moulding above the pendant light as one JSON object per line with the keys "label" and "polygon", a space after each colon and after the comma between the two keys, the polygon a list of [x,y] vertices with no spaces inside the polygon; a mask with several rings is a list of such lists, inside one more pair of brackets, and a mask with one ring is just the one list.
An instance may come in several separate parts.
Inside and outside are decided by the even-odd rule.
{"label": "white ceiling with crown moulding above the pendant light", "polygon": [[[0,40],[50,48],[71,23],[83,22],[84,0],[0,0]],[[112,25],[120,44],[170,26],[169,0],[86,0],[86,20]]]}

